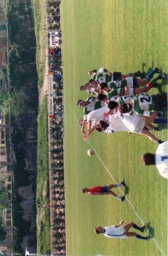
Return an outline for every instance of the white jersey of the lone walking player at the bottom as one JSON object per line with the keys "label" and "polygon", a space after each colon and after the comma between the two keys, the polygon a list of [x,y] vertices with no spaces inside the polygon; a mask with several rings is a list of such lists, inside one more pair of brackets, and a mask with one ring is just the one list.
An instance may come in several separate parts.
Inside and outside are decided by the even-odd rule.
{"label": "white jersey of the lone walking player at the bottom", "polygon": [[105,232],[103,232],[103,235],[109,238],[126,238],[124,232],[124,227],[108,226],[105,227]]}

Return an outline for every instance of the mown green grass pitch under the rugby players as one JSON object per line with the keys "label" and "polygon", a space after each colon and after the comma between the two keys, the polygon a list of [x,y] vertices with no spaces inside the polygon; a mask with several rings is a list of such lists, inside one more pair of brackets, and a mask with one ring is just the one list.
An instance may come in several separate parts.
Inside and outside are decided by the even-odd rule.
{"label": "mown green grass pitch under the rugby players", "polygon": [[[83,112],[76,106],[78,99],[88,96],[79,86],[88,81],[90,69],[129,73],[158,66],[168,73],[167,1],[62,0],[61,8],[67,255],[167,255],[167,180],[155,166],[145,167],[140,161],[143,153],[154,153],[158,145],[125,132],[94,132],[89,141],[83,141],[78,124]],[[167,91],[167,84],[161,89]],[[167,126],[155,135],[167,140]],[[89,148],[95,150],[94,157],[86,154]],[[81,192],[82,187],[118,183],[123,177],[124,203]],[[124,189],[114,192],[122,195]],[[120,220],[147,223],[153,238],[115,240],[94,234],[95,226]]]}

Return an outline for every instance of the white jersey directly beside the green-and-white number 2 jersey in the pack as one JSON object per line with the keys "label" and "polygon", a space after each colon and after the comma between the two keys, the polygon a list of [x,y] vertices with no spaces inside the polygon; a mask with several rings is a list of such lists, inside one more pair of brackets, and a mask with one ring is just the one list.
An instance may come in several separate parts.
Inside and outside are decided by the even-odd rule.
{"label": "white jersey directly beside the green-and-white number 2 jersey in the pack", "polygon": [[134,133],[141,133],[144,124],[145,124],[145,118],[143,116],[137,115],[137,113],[133,112],[132,115],[128,114],[122,114],[120,115],[121,121],[123,124],[131,130],[131,132]]}

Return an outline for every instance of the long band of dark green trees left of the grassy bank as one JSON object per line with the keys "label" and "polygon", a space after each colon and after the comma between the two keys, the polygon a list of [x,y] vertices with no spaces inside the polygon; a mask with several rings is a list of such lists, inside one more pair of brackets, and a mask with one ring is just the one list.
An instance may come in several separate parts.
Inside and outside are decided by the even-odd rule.
{"label": "long band of dark green trees left of the grassy bank", "polygon": [[[17,194],[18,187],[30,185],[36,186],[36,172],[30,174],[27,170],[28,163],[36,168],[36,154],[31,153],[36,148],[36,129],[38,112],[38,89],[36,73],[36,46],[33,21],[31,19],[30,1],[24,3],[7,1],[7,29],[8,29],[8,64],[7,74],[10,83],[10,92],[0,95],[0,103],[4,107],[4,114],[10,113],[13,146],[13,173],[15,180],[15,198],[13,198],[13,220],[17,229],[15,237],[15,249],[21,251],[22,237],[34,233],[31,230],[31,222],[22,220],[22,211],[19,206],[21,198]],[[28,140],[28,132],[33,130],[34,141]],[[33,178],[32,178],[33,177]],[[35,200],[34,200],[34,211]],[[35,216],[33,223],[35,221]],[[31,241],[32,243],[32,241]],[[33,241],[34,246],[36,240]]]}

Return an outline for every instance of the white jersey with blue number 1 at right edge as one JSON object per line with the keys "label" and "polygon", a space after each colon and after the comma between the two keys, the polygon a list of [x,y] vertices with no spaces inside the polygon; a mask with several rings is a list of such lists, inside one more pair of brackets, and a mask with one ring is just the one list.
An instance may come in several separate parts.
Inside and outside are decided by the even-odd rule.
{"label": "white jersey with blue number 1 at right edge", "polygon": [[168,141],[158,146],[155,162],[160,175],[168,180]]}

